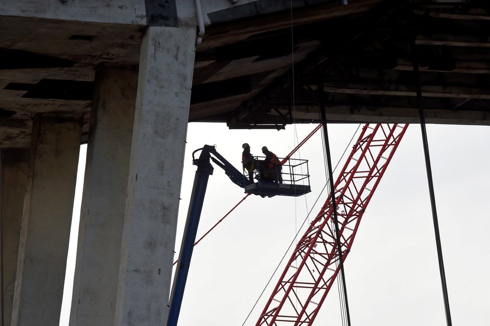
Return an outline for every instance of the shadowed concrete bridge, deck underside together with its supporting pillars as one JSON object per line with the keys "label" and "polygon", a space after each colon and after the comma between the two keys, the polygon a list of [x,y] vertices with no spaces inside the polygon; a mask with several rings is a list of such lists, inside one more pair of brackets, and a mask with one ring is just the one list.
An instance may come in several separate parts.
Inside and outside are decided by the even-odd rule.
{"label": "shadowed concrete bridge, deck underside together with its supporting pillars", "polygon": [[479,1],[0,3],[2,324],[59,323],[81,143],[70,325],[162,325],[188,121],[318,122],[323,88],[330,122],[417,122],[416,61],[428,123],[488,125],[488,31]]}

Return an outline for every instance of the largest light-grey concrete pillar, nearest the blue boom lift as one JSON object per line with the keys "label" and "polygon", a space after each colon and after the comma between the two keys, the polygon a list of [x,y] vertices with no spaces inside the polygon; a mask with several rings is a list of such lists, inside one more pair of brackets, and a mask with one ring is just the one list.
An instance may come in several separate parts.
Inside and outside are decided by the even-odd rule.
{"label": "largest light-grey concrete pillar, nearest the blue boom lift", "polygon": [[167,313],[194,65],[194,28],[149,27],[141,47],[114,325]]}

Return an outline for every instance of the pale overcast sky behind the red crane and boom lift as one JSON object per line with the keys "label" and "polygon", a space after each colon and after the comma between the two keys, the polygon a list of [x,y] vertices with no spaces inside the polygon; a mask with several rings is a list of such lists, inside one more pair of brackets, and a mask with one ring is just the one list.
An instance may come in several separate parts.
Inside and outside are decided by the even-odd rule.
{"label": "pale overcast sky behind the red crane and boom lift", "polygon": [[[278,156],[284,156],[315,126],[287,126],[281,131],[229,130],[224,124],[190,123],[175,251],[179,252],[194,179],[190,155],[193,150],[216,144],[217,151],[240,169],[243,142],[251,145],[255,155],[261,155],[260,149],[266,145]],[[334,166],[357,127],[358,124],[329,124]],[[428,125],[427,132],[452,321],[455,325],[487,326],[490,127]],[[309,159],[310,194],[297,198],[250,196],[194,248],[180,326],[244,322],[315,200],[320,196],[311,217],[327,199],[327,194],[320,195],[327,182],[321,133],[318,131],[299,153],[301,158]],[[81,161],[85,159],[84,147]],[[81,173],[79,180],[80,177]],[[243,190],[215,167],[197,237],[243,196]],[[76,198],[79,202],[80,194]],[[78,221],[74,224],[78,226]],[[74,247],[69,254],[74,261],[73,252]],[[290,253],[291,250],[285,260]],[[73,265],[69,261],[68,275],[73,273]],[[257,321],[283,269],[284,264],[246,325]],[[446,324],[419,125],[408,128],[381,180],[362,218],[345,273],[352,325]],[[66,289],[71,287],[67,281]],[[70,303],[64,303],[60,325],[68,325]],[[335,285],[315,324],[342,325]]]}

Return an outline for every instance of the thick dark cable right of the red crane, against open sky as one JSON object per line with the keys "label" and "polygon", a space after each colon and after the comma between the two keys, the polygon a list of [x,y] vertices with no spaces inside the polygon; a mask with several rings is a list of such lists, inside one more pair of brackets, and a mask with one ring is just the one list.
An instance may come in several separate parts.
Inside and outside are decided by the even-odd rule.
{"label": "thick dark cable right of the red crane, against open sky", "polygon": [[442,284],[442,297],[444,299],[444,309],[446,312],[446,324],[447,326],[452,326],[451,311],[449,310],[449,297],[447,295],[446,275],[444,272],[444,262],[442,261],[442,247],[441,247],[441,239],[439,235],[439,222],[437,221],[437,210],[435,207],[434,184],[432,182],[432,170],[430,168],[429,144],[427,142],[427,130],[425,129],[425,116],[424,116],[424,108],[422,103],[422,89],[420,87],[420,74],[418,70],[418,58],[417,58],[417,49],[415,47],[415,42],[412,42],[410,44],[410,50],[412,52],[413,73],[415,77],[415,87],[417,91],[418,114],[420,116],[420,128],[422,131],[422,143],[423,143],[424,155],[425,155],[425,168],[427,170],[427,182],[429,185],[430,207],[432,208],[432,220],[434,222],[435,243],[437,246],[437,258],[439,260],[439,272],[440,272],[441,284]]}

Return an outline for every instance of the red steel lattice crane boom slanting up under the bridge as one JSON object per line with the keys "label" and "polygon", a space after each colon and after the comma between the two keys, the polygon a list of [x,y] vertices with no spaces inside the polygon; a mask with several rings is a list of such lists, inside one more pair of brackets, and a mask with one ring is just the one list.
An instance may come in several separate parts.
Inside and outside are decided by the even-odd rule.
{"label": "red steel lattice crane boom slanting up under the bridge", "polygon": [[[364,125],[335,182],[344,261],[362,215],[407,127],[408,124]],[[298,241],[256,325],[311,325],[339,271],[332,200],[329,196]]]}

